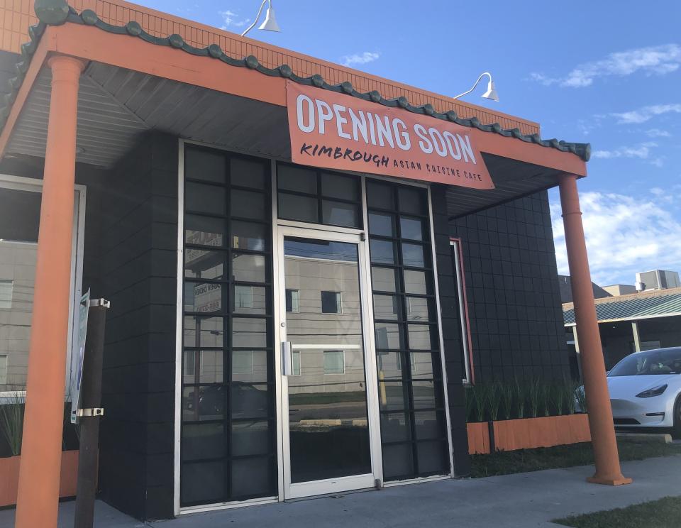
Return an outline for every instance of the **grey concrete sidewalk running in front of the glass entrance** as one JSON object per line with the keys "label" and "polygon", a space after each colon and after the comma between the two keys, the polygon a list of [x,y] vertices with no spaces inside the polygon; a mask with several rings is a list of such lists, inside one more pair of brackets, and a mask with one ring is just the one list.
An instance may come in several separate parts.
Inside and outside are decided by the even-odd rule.
{"label": "grey concrete sidewalk running in front of the glass entrance", "polygon": [[[184,515],[143,523],[97,503],[96,528],[218,527],[556,527],[550,519],[609,510],[681,495],[681,456],[623,463],[634,483],[621,488],[587,484],[592,468],[550,469],[470,480],[440,480],[381,491]],[[73,526],[74,502],[60,507],[60,528]],[[13,510],[0,511],[0,527]]]}

